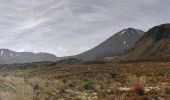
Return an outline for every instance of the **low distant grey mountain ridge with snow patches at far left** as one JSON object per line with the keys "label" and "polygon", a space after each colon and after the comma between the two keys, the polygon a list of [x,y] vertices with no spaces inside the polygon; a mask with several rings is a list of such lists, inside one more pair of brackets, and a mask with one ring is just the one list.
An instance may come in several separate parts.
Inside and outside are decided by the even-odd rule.
{"label": "low distant grey mountain ridge with snow patches at far left", "polygon": [[15,52],[0,49],[0,64],[56,61],[57,57],[48,53]]}

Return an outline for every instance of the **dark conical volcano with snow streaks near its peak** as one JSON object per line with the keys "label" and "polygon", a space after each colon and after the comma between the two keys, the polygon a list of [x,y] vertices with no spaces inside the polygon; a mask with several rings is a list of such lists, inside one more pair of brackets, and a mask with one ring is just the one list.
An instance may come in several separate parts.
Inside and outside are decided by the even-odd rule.
{"label": "dark conical volcano with snow streaks near its peak", "polygon": [[114,34],[95,48],[73,56],[72,58],[82,60],[102,60],[108,56],[116,56],[129,50],[143,36],[143,34],[144,32],[141,30],[133,28],[124,29]]}

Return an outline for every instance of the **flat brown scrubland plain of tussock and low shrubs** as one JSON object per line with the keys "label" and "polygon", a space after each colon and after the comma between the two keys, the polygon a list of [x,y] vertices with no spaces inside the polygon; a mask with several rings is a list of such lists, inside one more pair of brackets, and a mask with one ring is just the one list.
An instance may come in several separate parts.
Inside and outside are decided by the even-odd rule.
{"label": "flat brown scrubland plain of tussock and low shrubs", "polygon": [[170,62],[40,64],[0,75],[0,100],[170,100]]}

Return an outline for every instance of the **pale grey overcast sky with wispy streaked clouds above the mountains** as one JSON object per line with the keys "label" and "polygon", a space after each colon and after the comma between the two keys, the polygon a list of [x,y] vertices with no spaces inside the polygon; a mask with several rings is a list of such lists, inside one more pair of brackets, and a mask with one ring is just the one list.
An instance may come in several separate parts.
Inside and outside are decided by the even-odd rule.
{"label": "pale grey overcast sky with wispy streaked clouds above the mountains", "polygon": [[0,48],[68,56],[169,22],[170,0],[0,0]]}

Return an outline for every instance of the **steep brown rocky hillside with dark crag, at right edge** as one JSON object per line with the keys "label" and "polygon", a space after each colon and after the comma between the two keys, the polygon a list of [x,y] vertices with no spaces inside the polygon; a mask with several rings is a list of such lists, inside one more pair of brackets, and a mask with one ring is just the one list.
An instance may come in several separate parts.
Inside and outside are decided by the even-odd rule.
{"label": "steep brown rocky hillside with dark crag, at right edge", "polygon": [[170,24],[162,24],[151,28],[124,57],[170,57]]}

